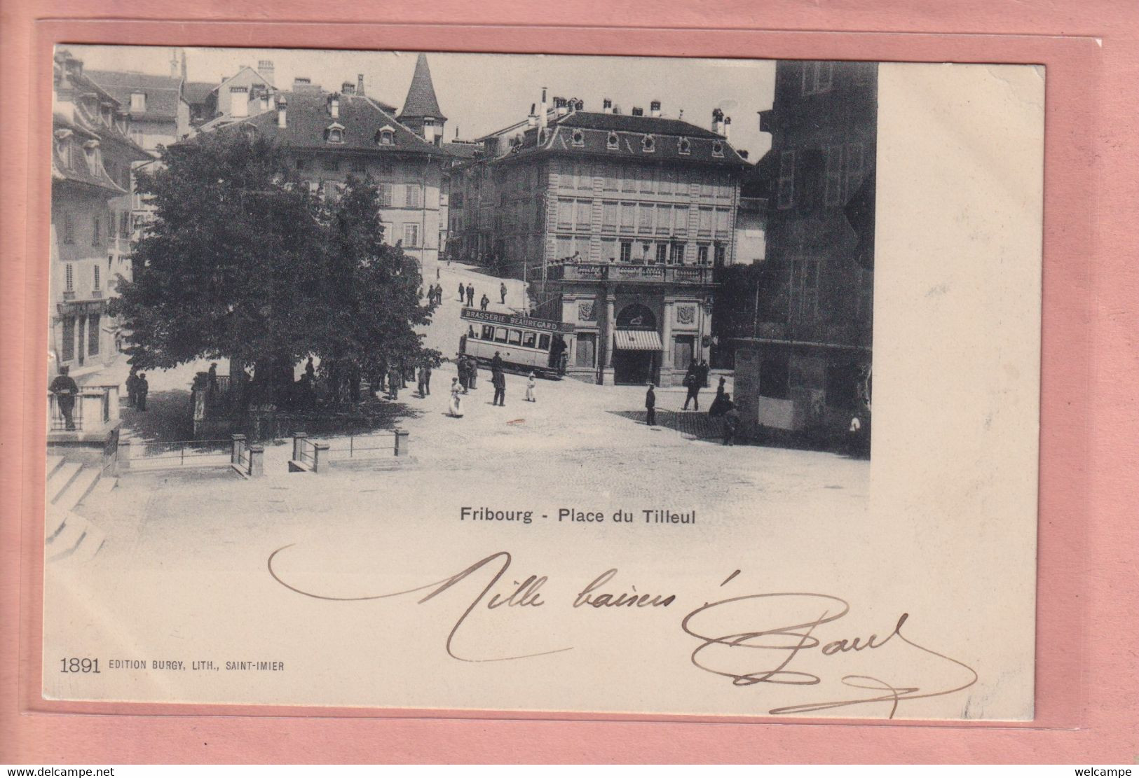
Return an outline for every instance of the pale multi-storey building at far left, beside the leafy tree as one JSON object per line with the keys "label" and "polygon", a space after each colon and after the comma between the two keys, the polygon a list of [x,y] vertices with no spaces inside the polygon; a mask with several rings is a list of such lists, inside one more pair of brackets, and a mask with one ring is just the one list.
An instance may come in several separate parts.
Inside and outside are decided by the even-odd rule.
{"label": "pale multi-storey building at far left, beside the leafy tree", "polygon": [[59,51],[54,66],[51,148],[51,348],[73,376],[117,355],[107,300],[130,275],[131,166],[150,156],[131,141],[131,114]]}

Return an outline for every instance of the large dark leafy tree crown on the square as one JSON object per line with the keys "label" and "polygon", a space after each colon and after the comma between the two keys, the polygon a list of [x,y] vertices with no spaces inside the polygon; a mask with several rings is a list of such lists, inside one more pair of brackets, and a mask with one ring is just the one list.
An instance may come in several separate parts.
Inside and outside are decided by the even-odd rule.
{"label": "large dark leafy tree crown on the square", "polygon": [[375,185],[352,179],[325,200],[284,159],[263,139],[219,132],[139,175],[156,218],[112,304],[132,364],[229,357],[284,398],[308,355],[361,371],[423,358],[413,328],[431,307],[416,262],[383,242]]}

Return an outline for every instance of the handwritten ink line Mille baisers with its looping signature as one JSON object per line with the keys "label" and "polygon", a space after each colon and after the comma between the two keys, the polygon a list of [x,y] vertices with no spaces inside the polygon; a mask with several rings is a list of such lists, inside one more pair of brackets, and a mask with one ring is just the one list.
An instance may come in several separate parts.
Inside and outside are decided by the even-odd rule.
{"label": "handwritten ink line Mille baisers with its looping signature", "polygon": [[[869,630],[852,635],[853,629],[836,634],[834,624],[845,619],[851,610],[845,599],[803,591],[740,594],[739,570],[718,587],[732,596],[718,599],[696,595],[697,601],[688,605],[683,605],[675,594],[652,594],[632,581],[618,585],[616,568],[574,586],[575,595],[559,593],[555,596],[551,590],[565,593],[565,588],[556,586],[548,576],[539,572],[508,576],[513,556],[503,551],[431,584],[385,594],[337,597],[294,586],[277,571],[278,557],[292,547],[292,544],[282,546],[269,555],[269,574],[286,589],[313,599],[343,603],[413,595],[408,604],[419,606],[451,589],[466,591],[470,599],[462,598],[465,610],[451,624],[444,646],[446,655],[460,662],[531,660],[573,651],[574,646],[533,646],[533,651],[524,653],[469,656],[456,648],[460,631],[466,634],[476,629],[465,627],[476,609],[503,614],[500,618],[507,618],[505,614],[524,618],[534,609],[567,607],[611,612],[629,621],[666,619],[674,624],[678,639],[691,645],[689,661],[694,668],[737,688],[785,686],[805,697],[796,704],[769,709],[772,715],[876,704],[892,719],[904,701],[957,694],[976,684],[978,678],[966,663],[907,637],[903,628],[910,619],[909,613],[902,613],[888,626],[880,624],[885,629],[869,635],[866,634]],[[672,615],[673,606],[691,610]],[[444,618],[450,621],[453,616]],[[851,667],[855,657],[861,660],[855,665],[857,671]],[[878,667],[868,667],[872,664]],[[921,669],[917,669],[918,665],[923,665]],[[903,680],[896,680],[898,676]],[[915,679],[913,676],[932,679]],[[817,690],[812,694],[810,689],[814,687]]]}

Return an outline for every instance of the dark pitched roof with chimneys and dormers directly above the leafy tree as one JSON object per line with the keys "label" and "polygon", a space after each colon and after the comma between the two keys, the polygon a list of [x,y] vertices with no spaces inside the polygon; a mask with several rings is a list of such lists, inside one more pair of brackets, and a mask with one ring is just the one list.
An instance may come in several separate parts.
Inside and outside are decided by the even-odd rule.
{"label": "dark pitched roof with chimneys and dormers directly above the leafy tree", "polygon": [[[262,136],[295,149],[405,151],[439,156],[446,154],[400,124],[371,98],[342,94],[339,116],[334,119],[328,113],[328,100],[331,96],[327,92],[281,92],[279,96],[284,96],[287,100],[285,127],[277,126],[276,109],[235,121],[226,127],[254,126]],[[344,142],[329,143],[325,139],[325,130],[333,124],[344,129]],[[376,142],[376,134],[386,127],[392,130],[392,144],[380,146]]]}

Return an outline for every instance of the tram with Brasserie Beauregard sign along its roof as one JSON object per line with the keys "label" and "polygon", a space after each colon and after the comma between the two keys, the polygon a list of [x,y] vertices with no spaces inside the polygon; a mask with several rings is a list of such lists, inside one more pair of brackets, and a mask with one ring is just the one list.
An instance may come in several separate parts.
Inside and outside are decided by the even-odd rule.
{"label": "tram with Brasserie Beauregard sign along its roof", "polygon": [[498,351],[507,370],[543,378],[565,374],[573,324],[478,308],[464,308],[460,317],[467,331],[459,338],[459,354],[490,364]]}

